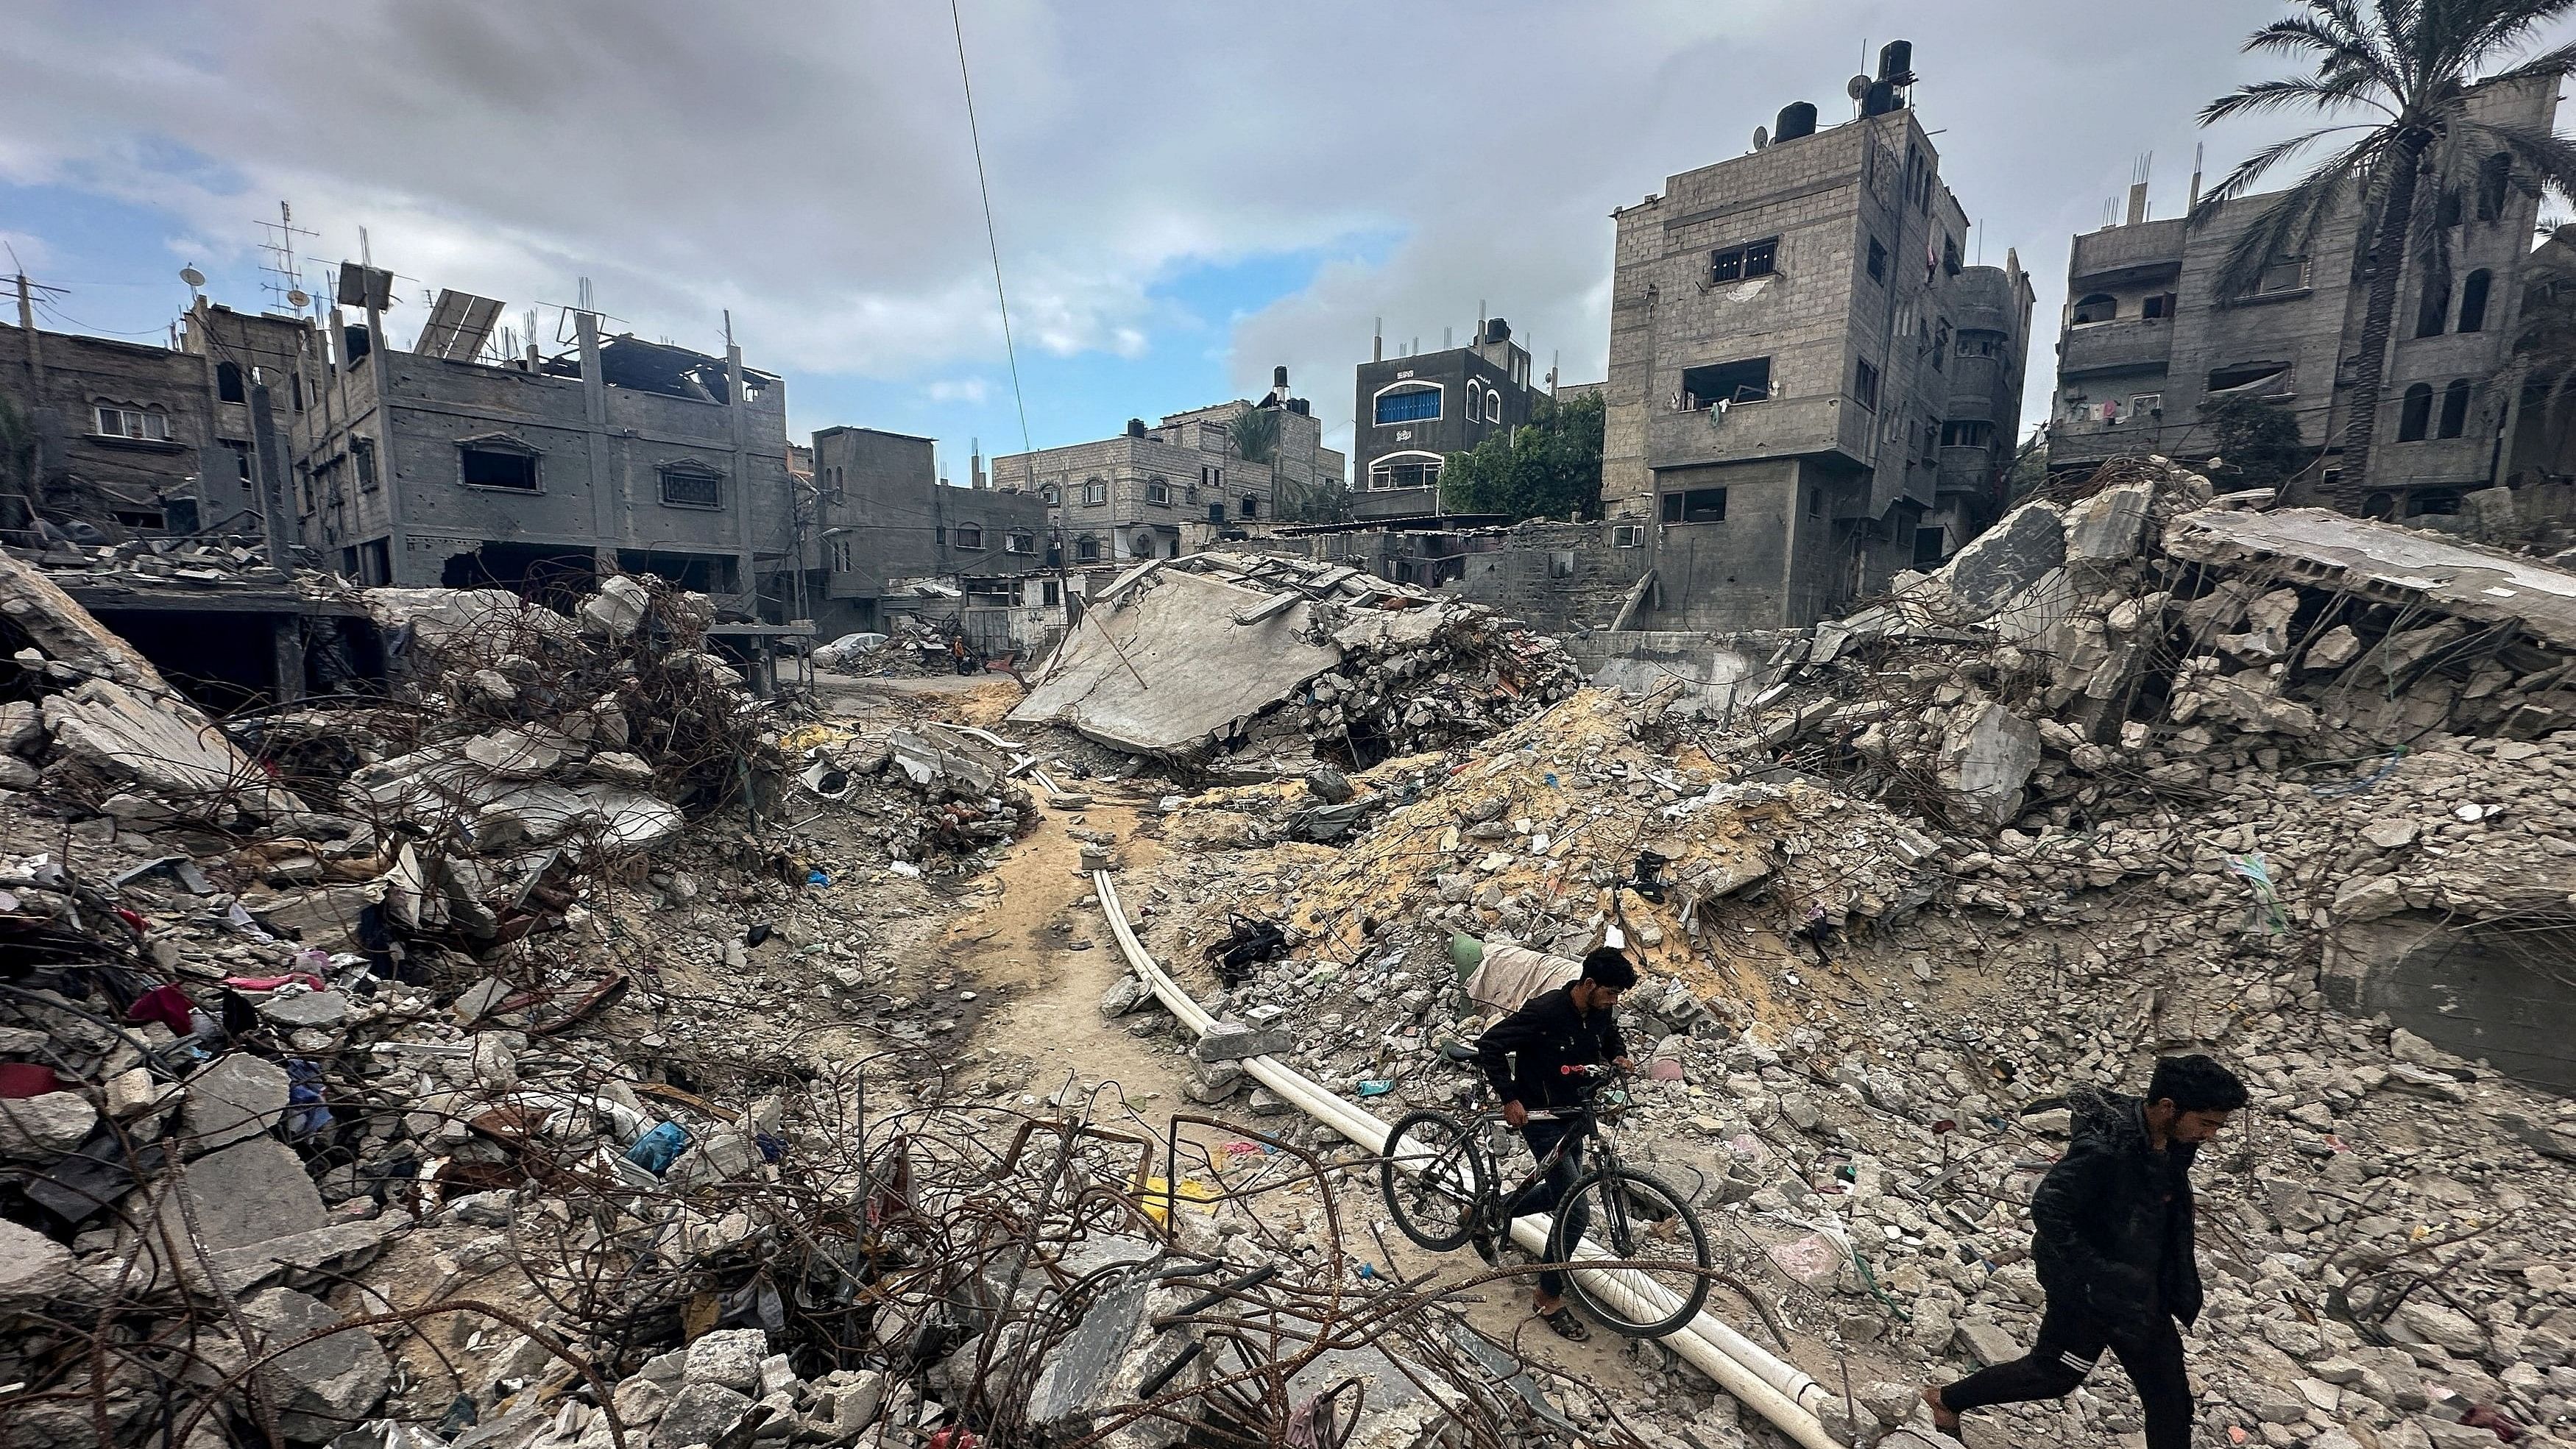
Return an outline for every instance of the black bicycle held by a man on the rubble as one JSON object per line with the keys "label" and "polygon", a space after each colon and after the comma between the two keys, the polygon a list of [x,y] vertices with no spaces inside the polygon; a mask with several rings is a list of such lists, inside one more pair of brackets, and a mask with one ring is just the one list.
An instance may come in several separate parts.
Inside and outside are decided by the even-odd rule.
{"label": "black bicycle held by a man on the rubble", "polygon": [[[1556,1202],[1548,1225],[1548,1261],[1577,1264],[1577,1243],[1566,1241],[1569,1223],[1589,1217],[1589,1235],[1607,1248],[1615,1261],[1664,1259],[1664,1246],[1687,1243],[1685,1256],[1672,1256],[1672,1269],[1597,1269],[1610,1284],[1587,1282],[1592,1274],[1569,1271],[1566,1292],[1584,1305],[1584,1313],[1628,1338],[1662,1338],[1690,1323],[1708,1302],[1708,1228],[1690,1202],[1659,1176],[1620,1161],[1615,1140],[1602,1132],[1602,1114],[1618,1104],[1600,1102],[1600,1091],[1613,1076],[1605,1066],[1569,1066],[1566,1076],[1582,1078],[1582,1096],[1571,1112],[1574,1130],[1510,1192],[1494,1192],[1499,1176],[1486,1130],[1499,1114],[1479,1112],[1461,1120],[1450,1112],[1406,1112],[1386,1135],[1386,1153],[1378,1158],[1378,1192],[1396,1220],[1396,1230],[1414,1243],[1448,1253],[1468,1241],[1479,1241],[1486,1261],[1494,1253],[1486,1243],[1512,1230],[1510,1204],[1520,1202],[1569,1150],[1584,1143],[1597,1145],[1597,1166],[1574,1179],[1574,1186]],[[1579,1264],[1577,1264],[1579,1266]],[[1615,1287],[1613,1287],[1615,1284]],[[1672,1307],[1667,1307],[1672,1305]],[[1662,1313],[1656,1313],[1662,1310]]]}

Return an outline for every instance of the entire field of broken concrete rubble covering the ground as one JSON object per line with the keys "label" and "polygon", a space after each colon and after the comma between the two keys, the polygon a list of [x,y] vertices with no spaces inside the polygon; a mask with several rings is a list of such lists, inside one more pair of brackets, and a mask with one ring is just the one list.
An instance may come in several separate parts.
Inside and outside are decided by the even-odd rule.
{"label": "entire field of broken concrete rubble covering the ground", "polygon": [[[2120,461],[1625,687],[1224,551],[1025,695],[902,633],[781,697],[657,579],[0,556],[0,1441],[1785,1444],[1538,1341],[1525,1256],[1406,1248],[1260,1086],[1455,1104],[1600,942],[1623,1150],[1829,1441],[2027,1349],[2066,1096],[2161,1050],[2254,1089],[2202,1439],[2576,1441],[2576,571],[2262,502]],[[327,597],[384,677],[191,703],[64,592],[144,582]]]}

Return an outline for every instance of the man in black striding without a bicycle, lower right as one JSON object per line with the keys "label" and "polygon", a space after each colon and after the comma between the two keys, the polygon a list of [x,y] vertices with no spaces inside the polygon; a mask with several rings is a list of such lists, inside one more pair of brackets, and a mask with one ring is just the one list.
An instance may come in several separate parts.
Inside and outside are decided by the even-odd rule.
{"label": "man in black striding without a bicycle, lower right", "polygon": [[2074,1143],[2030,1194],[2030,1256],[2048,1289],[2040,1338],[2022,1359],[1924,1387],[1942,1434],[1958,1439],[1971,1408],[2066,1398],[2110,1349],[2146,1405],[2146,1449],[2190,1449],[2177,1328],[2200,1318],[2190,1174],[2244,1104],[2246,1086],[2205,1055],[2159,1058],[2143,1099],[2071,1096]]}

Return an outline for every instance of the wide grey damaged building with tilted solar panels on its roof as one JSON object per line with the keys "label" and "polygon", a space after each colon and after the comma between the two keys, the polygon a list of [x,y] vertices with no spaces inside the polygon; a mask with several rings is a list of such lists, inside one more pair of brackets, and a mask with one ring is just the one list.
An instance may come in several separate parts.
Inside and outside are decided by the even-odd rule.
{"label": "wide grey damaged building with tilted solar panels on its roof", "polygon": [[381,311],[335,319],[296,427],[304,543],[363,584],[546,592],[618,569],[760,618],[796,543],[786,386],[739,347],[600,337],[592,311],[569,314],[569,353],[502,358],[469,335],[500,306],[451,296],[412,350],[381,342]]}

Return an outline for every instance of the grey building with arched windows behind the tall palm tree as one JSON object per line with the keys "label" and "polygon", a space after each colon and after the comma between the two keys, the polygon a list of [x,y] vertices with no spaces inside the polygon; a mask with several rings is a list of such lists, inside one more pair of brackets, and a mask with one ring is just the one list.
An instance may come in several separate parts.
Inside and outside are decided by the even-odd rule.
{"label": "grey building with arched windows behind the tall palm tree", "polygon": [[[2488,124],[2550,129],[2555,85],[2491,85],[2470,100]],[[2197,198],[2200,178],[2192,178]],[[2164,453],[2208,461],[2218,450],[2210,404],[2254,399],[2298,420],[2316,450],[2313,484],[2342,486],[2352,371],[2370,278],[2360,206],[2344,206],[2295,255],[2275,257],[2251,291],[2226,296],[2221,273],[2272,196],[2226,201],[2202,224],[2146,219],[2133,190],[2128,224],[2074,239],[2048,466],[2089,471],[2105,458]],[[2540,198],[2524,193],[2506,152],[2463,154],[2427,183],[2450,275],[2406,257],[2380,420],[2362,507],[2378,517],[2452,512],[2460,494],[2504,479],[2499,438],[2517,430],[2512,360]]]}

